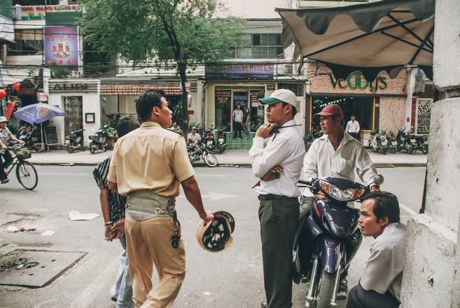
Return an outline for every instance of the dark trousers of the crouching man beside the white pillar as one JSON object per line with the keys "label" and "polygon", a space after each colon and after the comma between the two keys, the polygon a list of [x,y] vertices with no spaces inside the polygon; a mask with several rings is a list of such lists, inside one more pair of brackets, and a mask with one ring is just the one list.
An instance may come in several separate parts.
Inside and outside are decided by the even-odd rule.
{"label": "dark trousers of the crouching man beside the white pillar", "polygon": [[387,291],[385,294],[374,290],[366,291],[360,284],[348,293],[346,308],[397,308],[398,300]]}

